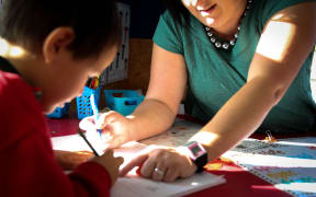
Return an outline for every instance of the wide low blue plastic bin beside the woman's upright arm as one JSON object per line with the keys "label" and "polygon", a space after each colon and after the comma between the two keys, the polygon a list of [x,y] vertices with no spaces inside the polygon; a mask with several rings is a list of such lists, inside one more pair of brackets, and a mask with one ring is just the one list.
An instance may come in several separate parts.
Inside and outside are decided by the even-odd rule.
{"label": "wide low blue plastic bin beside the woman's upright arm", "polygon": [[104,90],[106,106],[127,116],[144,101],[145,96],[133,90]]}

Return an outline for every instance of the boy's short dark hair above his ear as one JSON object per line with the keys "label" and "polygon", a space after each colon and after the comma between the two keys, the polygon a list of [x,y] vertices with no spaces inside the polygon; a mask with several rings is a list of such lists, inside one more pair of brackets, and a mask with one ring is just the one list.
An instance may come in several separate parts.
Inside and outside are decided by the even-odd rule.
{"label": "boy's short dark hair above his ear", "polygon": [[0,36],[37,53],[56,27],[74,28],[69,45],[74,58],[98,57],[106,46],[121,42],[115,0],[4,0]]}

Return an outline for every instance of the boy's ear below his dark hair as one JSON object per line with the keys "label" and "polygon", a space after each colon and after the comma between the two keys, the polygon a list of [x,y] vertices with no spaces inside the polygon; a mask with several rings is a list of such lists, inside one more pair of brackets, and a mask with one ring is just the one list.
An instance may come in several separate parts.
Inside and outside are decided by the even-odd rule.
{"label": "boy's ear below his dark hair", "polygon": [[75,39],[71,27],[57,27],[46,37],[43,44],[43,56],[46,63],[54,61]]}

